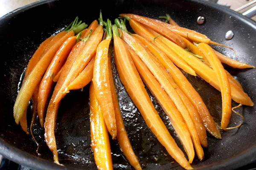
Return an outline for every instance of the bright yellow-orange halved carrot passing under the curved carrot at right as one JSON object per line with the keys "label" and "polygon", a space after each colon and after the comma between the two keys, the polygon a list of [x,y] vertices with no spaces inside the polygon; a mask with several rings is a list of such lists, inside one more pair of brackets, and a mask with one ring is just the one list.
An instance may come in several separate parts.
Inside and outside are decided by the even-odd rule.
{"label": "bright yellow-orange halved carrot passing under the curved carrot at right", "polygon": [[[159,39],[161,39],[164,43],[169,45],[169,47],[172,48],[172,50],[177,55],[182,57],[202,79],[209,82],[213,87],[215,87],[217,90],[220,91],[219,81],[218,79],[214,78],[215,73],[208,65],[204,64],[198,58],[192,56],[192,54],[189,54],[188,51],[185,51],[183,48],[176,45],[175,43],[168,40],[167,38],[160,36]],[[241,103],[243,105],[249,105],[249,106],[253,105],[253,102],[251,101],[250,97],[247,94],[245,94],[242,89],[240,89],[233,82],[231,82],[230,85],[231,85],[232,99],[235,102]]]}

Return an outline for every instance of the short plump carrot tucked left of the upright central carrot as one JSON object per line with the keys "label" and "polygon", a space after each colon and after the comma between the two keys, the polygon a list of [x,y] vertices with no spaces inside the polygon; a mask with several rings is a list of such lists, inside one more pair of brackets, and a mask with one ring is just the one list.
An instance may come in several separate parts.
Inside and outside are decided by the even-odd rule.
{"label": "short plump carrot tucked left of the upright central carrot", "polygon": [[94,65],[95,57],[93,57],[89,64],[84,68],[84,70],[74,79],[73,82],[67,86],[68,91],[76,90],[83,88],[93,79],[93,65]]}

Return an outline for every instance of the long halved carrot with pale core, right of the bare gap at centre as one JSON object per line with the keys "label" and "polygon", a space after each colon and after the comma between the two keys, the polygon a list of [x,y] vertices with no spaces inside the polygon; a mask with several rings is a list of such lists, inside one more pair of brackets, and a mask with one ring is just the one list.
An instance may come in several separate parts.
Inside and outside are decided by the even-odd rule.
{"label": "long halved carrot with pale core, right of the bare gap at centre", "polygon": [[113,26],[114,37],[114,57],[116,68],[122,84],[131,97],[134,104],[140,111],[152,133],[157,137],[159,142],[166,148],[168,153],[186,169],[192,169],[186,160],[184,153],[175,143],[160,116],[152,104],[147,91],[144,88],[140,75],[132,62],[124,42],[118,37],[116,26]]}

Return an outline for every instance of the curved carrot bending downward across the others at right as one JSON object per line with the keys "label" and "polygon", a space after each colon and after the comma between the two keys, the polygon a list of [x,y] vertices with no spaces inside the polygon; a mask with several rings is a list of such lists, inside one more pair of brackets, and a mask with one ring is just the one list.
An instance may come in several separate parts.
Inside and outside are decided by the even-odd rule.
{"label": "curved carrot bending downward across the others at right", "polygon": [[216,77],[220,82],[221,88],[221,97],[222,97],[222,116],[221,116],[221,128],[226,130],[227,125],[231,116],[231,89],[230,81],[227,77],[227,73],[221,64],[221,61],[218,59],[212,48],[205,44],[200,43],[198,48],[204,53],[204,56],[207,57],[210,65],[212,66],[213,71],[215,72]]}

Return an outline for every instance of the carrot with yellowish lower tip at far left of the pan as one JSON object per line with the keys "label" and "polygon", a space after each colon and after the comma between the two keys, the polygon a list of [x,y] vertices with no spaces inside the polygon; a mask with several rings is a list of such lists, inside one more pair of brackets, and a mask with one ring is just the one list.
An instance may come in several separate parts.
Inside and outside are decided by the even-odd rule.
{"label": "carrot with yellowish lower tip at far left of the pan", "polygon": [[57,43],[55,43],[55,45],[53,45],[49,51],[47,51],[47,53],[38,61],[38,63],[35,65],[35,68],[26,78],[25,82],[20,88],[14,105],[14,117],[17,124],[20,122],[20,118],[27,107],[27,103],[29,102],[36,86],[40,83],[55,53],[58,51],[63,42],[71,36],[74,36],[73,31],[68,32]]}

